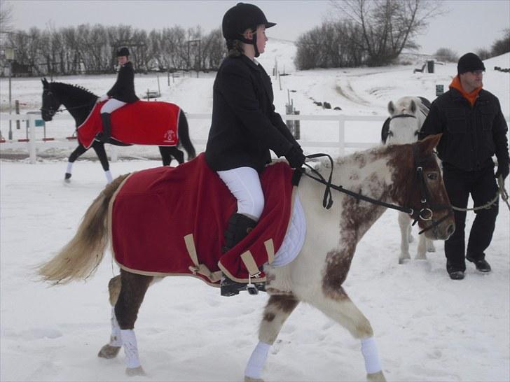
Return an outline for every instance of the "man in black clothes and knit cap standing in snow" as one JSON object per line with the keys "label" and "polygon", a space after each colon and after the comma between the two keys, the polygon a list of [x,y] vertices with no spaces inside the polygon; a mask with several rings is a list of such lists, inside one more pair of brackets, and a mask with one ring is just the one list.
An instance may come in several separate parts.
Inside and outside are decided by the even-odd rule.
{"label": "man in black clothes and knit cap standing in snow", "polygon": [[[496,178],[509,174],[509,151],[506,121],[499,100],[483,90],[485,66],[480,57],[467,53],[460,57],[457,76],[450,90],[439,96],[430,108],[420,131],[420,139],[443,133],[437,146],[443,162],[443,180],[453,206],[466,208],[469,194],[475,208],[497,195]],[[497,157],[494,174],[492,155]],[[465,259],[481,272],[490,272],[485,253],[492,240],[498,211],[498,199],[489,208],[475,211],[467,252],[464,227],[466,211],[455,210],[455,232],[445,242],[446,270],[453,280],[462,280]],[[465,257],[465,258],[464,258]]]}

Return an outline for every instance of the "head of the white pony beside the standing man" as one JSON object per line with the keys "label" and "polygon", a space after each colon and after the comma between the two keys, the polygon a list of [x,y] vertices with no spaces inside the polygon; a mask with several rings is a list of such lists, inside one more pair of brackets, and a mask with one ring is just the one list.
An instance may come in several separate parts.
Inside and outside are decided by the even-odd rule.
{"label": "head of the white pony beside the standing man", "polygon": [[[390,118],[385,122],[387,131],[382,134],[384,143],[411,143],[418,140],[418,132],[425,121],[428,108],[418,97],[402,97],[388,103]],[[384,129],[384,127],[383,127]]]}

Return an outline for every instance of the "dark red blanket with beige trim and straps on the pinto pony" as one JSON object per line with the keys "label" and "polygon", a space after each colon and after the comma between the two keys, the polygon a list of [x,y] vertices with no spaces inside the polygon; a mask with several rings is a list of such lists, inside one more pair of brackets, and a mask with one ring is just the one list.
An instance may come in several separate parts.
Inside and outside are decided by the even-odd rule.
{"label": "dark red blanket with beige trim and straps on the pinto pony", "polygon": [[265,281],[259,268],[273,262],[289,225],[292,174],[286,162],[263,171],[266,204],[261,218],[223,254],[223,232],[237,201],[209,169],[204,154],[178,167],[133,173],[110,204],[114,258],[137,274],[195,275],[214,284],[223,271],[237,281],[247,282],[249,275],[252,281]]}

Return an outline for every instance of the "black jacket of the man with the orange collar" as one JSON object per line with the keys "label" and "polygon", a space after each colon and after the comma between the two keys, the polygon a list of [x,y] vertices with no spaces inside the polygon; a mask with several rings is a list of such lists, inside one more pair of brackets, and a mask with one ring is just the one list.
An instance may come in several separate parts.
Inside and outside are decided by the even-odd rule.
{"label": "black jacket of the man with the orange collar", "polygon": [[492,155],[499,163],[509,162],[508,127],[499,100],[480,90],[474,106],[450,87],[432,102],[419,138],[443,133],[437,146],[443,163],[463,171],[476,171],[493,166]]}

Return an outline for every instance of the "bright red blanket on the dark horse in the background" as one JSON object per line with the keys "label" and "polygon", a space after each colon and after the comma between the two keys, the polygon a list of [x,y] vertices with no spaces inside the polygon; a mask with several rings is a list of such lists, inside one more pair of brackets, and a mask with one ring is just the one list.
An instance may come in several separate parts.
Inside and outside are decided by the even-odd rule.
{"label": "bright red blanket on the dark horse in the background", "polygon": [[[103,131],[99,111],[104,102],[96,104],[85,122],[78,126],[78,140],[85,148],[90,148],[96,134]],[[177,146],[180,111],[179,106],[170,102],[127,104],[111,113],[111,136],[123,143]]]}

